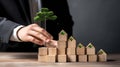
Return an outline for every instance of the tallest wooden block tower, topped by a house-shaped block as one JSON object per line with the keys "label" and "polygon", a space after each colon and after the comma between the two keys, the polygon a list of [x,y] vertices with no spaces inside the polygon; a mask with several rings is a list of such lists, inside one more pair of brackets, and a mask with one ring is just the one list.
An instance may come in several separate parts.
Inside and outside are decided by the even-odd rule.
{"label": "tallest wooden block tower, topped by a house-shaped block", "polygon": [[58,40],[58,55],[57,61],[58,62],[67,62],[67,55],[66,55],[66,47],[67,47],[67,33],[62,30],[59,33],[59,40]]}

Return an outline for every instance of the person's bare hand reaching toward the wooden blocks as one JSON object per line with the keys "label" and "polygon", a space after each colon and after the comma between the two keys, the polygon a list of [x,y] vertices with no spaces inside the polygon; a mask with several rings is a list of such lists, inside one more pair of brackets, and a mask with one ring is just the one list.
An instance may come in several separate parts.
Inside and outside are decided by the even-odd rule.
{"label": "person's bare hand reaching toward the wooden blocks", "polygon": [[43,45],[53,39],[45,29],[37,24],[30,24],[21,28],[18,31],[18,37],[24,42],[33,42],[38,45]]}

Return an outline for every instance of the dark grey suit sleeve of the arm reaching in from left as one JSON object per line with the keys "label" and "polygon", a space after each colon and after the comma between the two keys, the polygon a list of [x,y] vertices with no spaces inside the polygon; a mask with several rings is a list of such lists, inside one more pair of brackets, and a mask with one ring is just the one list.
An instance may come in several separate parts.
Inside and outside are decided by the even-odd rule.
{"label": "dark grey suit sleeve of the arm reaching in from left", "polygon": [[19,24],[0,17],[0,43],[8,43],[13,29]]}

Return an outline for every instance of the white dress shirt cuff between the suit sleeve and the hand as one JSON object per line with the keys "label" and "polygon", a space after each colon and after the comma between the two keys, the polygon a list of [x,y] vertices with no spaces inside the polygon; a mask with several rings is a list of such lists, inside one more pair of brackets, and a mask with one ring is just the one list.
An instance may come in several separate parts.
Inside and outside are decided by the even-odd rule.
{"label": "white dress shirt cuff between the suit sleeve and the hand", "polygon": [[22,41],[18,38],[18,36],[17,36],[17,31],[18,31],[20,28],[22,28],[22,27],[24,27],[24,26],[23,26],[23,25],[20,25],[20,26],[17,26],[16,28],[14,28],[13,33],[12,33],[12,35],[11,35],[11,37],[10,37],[10,40],[11,40],[11,41],[22,42]]}

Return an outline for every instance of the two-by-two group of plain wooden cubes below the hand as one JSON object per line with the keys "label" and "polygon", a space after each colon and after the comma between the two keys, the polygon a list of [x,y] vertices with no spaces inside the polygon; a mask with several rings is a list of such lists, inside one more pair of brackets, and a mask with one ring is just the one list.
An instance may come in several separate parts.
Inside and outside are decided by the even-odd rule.
{"label": "two-by-two group of plain wooden cubes below the hand", "polygon": [[57,49],[56,48],[39,48],[38,61],[39,62],[56,62]]}

